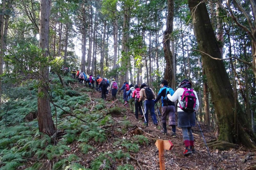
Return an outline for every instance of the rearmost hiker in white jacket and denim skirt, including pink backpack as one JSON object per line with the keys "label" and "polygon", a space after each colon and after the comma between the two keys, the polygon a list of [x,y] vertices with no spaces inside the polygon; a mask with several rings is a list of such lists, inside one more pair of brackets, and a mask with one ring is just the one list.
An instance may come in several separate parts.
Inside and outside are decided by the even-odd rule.
{"label": "rearmost hiker in white jacket and denim skirt, including pink backpack", "polygon": [[183,152],[184,155],[195,153],[191,127],[195,126],[195,112],[198,110],[199,101],[196,91],[191,87],[191,82],[184,79],[172,96],[167,92],[167,97],[170,101],[175,102],[178,100],[178,127],[182,128],[183,140],[186,147]]}

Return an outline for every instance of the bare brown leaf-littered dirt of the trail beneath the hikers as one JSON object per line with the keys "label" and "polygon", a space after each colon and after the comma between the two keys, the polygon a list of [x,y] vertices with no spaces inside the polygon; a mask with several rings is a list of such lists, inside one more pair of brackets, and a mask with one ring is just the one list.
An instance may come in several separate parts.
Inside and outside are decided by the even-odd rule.
{"label": "bare brown leaf-littered dirt of the trail beneath the hikers", "polygon": [[[91,91],[89,92],[89,94],[92,99],[101,97],[101,93],[99,91]],[[155,146],[155,142],[157,139],[170,140],[174,145],[172,150],[165,151],[164,155],[166,169],[256,169],[253,166],[256,165],[256,152],[250,151],[243,146],[237,146],[236,149],[230,149],[229,151],[210,149],[210,156],[206,150],[200,130],[197,125],[192,128],[196,153],[189,156],[184,156],[183,151],[185,150],[185,145],[183,142],[181,128],[177,127],[176,137],[171,137],[168,134],[162,134],[160,132],[160,126],[156,127],[153,124],[151,116],[148,116],[149,125],[148,127],[146,127],[145,125],[143,125],[143,118],[139,118],[139,120],[136,120],[134,113],[130,111],[130,107],[123,105],[122,94],[118,93],[117,96],[118,101],[115,102],[113,105],[119,108],[123,108],[125,112],[123,112],[122,115],[116,116],[115,114],[112,114],[113,119],[116,122],[120,122],[123,120],[123,116],[125,116],[125,119],[129,120],[133,125],[128,129],[128,132],[119,137],[130,140],[134,135],[144,135],[146,138],[148,138],[148,145],[141,146],[140,151],[136,154],[130,153],[133,158],[141,161],[140,165],[143,169],[159,169],[158,149]],[[111,97],[111,94],[107,95],[107,100],[111,101]],[[112,132],[114,132],[114,129],[118,126],[119,124],[113,124],[109,128]],[[214,139],[214,133],[207,125],[200,124],[200,126],[206,141]],[[171,132],[171,127],[167,127],[167,129],[168,132]],[[109,147],[111,147],[111,143],[109,143]],[[249,157],[250,159],[248,159]],[[86,159],[88,160],[87,157]],[[135,169],[140,169],[135,160],[131,159],[130,163],[131,162]]]}

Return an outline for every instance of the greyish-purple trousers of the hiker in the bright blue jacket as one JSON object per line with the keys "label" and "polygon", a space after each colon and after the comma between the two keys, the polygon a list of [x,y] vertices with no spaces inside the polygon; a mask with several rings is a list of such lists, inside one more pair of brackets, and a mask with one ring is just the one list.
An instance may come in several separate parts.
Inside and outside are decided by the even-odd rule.
{"label": "greyish-purple trousers of the hiker in the bright blue jacket", "polygon": [[162,106],[162,122],[166,123],[166,117],[169,116],[169,125],[176,125],[175,121],[175,107],[174,106]]}

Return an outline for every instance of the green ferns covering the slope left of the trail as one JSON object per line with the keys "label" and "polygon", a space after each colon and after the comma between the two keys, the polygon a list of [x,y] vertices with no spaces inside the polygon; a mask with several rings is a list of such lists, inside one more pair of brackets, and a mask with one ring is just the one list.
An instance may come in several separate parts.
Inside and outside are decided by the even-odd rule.
{"label": "green ferns covering the slope left of the trail", "polygon": [[[76,83],[77,80],[70,77],[63,78],[69,84]],[[107,109],[110,104],[96,98],[93,111],[89,104],[90,98],[87,91],[92,89],[87,87],[74,88],[67,85],[62,88],[57,75],[51,75],[52,99],[59,106],[57,108],[58,130],[64,130],[63,135],[57,145],[53,145],[53,139],[42,134],[38,130],[37,113],[37,86],[36,81],[27,81],[21,86],[12,87],[13,90],[22,90],[22,95],[9,103],[6,116],[7,105],[1,107],[0,120],[0,170],[11,170],[26,167],[26,170],[39,169],[45,166],[44,163],[50,160],[53,169],[80,169],[96,170],[103,164],[103,169],[125,170],[134,169],[130,164],[123,164],[130,159],[130,153],[138,153],[141,146],[148,145],[148,140],[142,135],[135,135],[131,139],[123,139],[122,136],[113,139],[116,149],[105,150],[102,146],[108,145],[108,138],[112,138],[112,133],[124,134],[131,123],[124,117],[119,124],[122,128],[116,128],[110,132],[104,126],[111,126],[116,123],[112,119],[112,114],[124,112],[118,107]],[[68,83],[67,83],[68,84]],[[55,109],[51,105],[51,112],[55,122]],[[84,120],[69,115],[72,113]],[[103,116],[104,115],[104,116]],[[101,119],[100,119],[101,118]],[[5,123],[7,127],[5,127]],[[73,152],[73,147],[77,146],[79,151]],[[78,154],[81,152],[81,154]],[[89,167],[82,165],[84,156],[92,158],[90,155],[97,152],[97,157],[90,161]],[[31,162],[31,163],[29,163]],[[119,165],[119,166],[116,166]]]}

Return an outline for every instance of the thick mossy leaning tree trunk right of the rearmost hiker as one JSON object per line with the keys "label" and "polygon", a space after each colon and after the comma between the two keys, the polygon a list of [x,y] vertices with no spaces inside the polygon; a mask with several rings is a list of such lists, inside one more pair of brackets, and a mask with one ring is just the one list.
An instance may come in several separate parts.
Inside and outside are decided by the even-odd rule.
{"label": "thick mossy leaning tree trunk right of the rearmost hiker", "polygon": [[[194,33],[198,42],[200,51],[211,55],[214,58],[221,58],[218,44],[205,3],[198,0],[188,0],[190,11],[193,13]],[[197,8],[195,8],[195,6]],[[196,9],[196,10],[195,10]],[[211,98],[216,111],[220,133],[218,141],[211,143],[210,146],[220,149],[228,149],[230,143],[241,142],[243,145],[256,148],[256,136],[248,124],[245,114],[240,108],[237,100],[234,100],[232,86],[229,82],[228,74],[223,61],[214,60],[201,53],[204,63],[205,74],[207,77]],[[239,131],[235,132],[234,109],[237,102],[237,126]],[[238,138],[239,141],[235,139]],[[230,142],[230,143],[225,143]]]}

